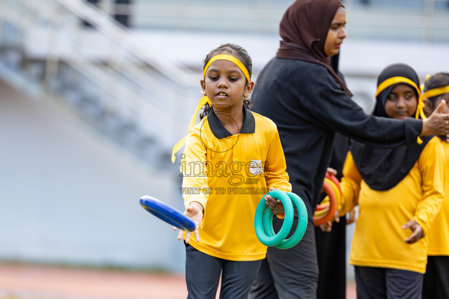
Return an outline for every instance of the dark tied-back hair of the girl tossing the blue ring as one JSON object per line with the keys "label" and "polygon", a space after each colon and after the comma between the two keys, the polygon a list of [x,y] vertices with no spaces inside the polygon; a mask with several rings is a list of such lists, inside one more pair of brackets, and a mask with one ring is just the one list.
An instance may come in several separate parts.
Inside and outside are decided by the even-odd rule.
{"label": "dark tied-back hair of the girl tossing the blue ring", "polygon": [[[209,62],[213,56],[219,54],[229,54],[232,56],[236,56],[236,58],[240,62],[242,62],[242,64],[247,68],[248,74],[250,75],[251,78],[252,73],[251,57],[249,56],[247,50],[240,47],[236,43],[221,43],[217,47],[213,48],[211,52],[209,52],[209,54],[206,55],[206,58],[204,59],[204,65],[202,66],[202,68],[204,69],[206,67],[207,62]],[[248,79],[246,79],[246,82],[248,84]],[[250,109],[252,107],[252,101],[250,98],[244,98],[243,104],[247,109]],[[199,114],[199,118],[203,119],[207,114],[209,114],[209,112],[211,112],[211,107],[209,106],[209,104],[206,104],[202,113]]]}

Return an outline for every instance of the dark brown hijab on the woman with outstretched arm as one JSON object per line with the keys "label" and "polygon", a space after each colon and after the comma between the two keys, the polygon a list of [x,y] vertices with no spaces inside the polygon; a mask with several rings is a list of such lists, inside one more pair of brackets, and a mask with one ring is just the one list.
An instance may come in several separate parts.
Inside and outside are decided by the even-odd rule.
{"label": "dark brown hijab on the woman with outstretched arm", "polygon": [[296,0],[282,18],[279,35],[283,40],[276,56],[323,65],[348,96],[352,96],[324,53],[327,32],[340,6],[343,4],[339,0]]}

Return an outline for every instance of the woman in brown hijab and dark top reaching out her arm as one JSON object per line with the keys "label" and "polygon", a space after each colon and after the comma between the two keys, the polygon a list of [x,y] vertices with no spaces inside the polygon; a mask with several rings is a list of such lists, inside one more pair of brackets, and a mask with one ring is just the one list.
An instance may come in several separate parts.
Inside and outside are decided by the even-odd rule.
{"label": "woman in brown hijab and dark top reaching out her arm", "polygon": [[[253,91],[252,110],[277,125],[292,192],[304,200],[309,223],[295,247],[268,248],[250,298],[316,298],[313,212],[335,132],[390,148],[415,144],[419,135],[449,133],[449,115],[440,114],[440,108],[424,121],[396,120],[367,115],[351,100],[351,92],[329,63],[346,37],[345,22],[339,0],[295,1],[280,24],[281,47],[260,73]],[[273,220],[275,230],[281,225],[282,220]]]}

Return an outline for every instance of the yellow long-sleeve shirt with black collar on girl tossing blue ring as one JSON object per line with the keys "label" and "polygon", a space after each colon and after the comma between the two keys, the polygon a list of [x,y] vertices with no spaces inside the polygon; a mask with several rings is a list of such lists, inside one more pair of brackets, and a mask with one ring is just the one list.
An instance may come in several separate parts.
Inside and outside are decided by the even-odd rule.
{"label": "yellow long-sleeve shirt with black collar on girl tossing blue ring", "polygon": [[276,125],[243,110],[236,135],[209,113],[189,131],[181,161],[185,206],[197,201],[204,208],[200,242],[190,238],[189,244],[226,260],[265,257],[267,247],[255,235],[255,209],[269,187],[291,191]]}

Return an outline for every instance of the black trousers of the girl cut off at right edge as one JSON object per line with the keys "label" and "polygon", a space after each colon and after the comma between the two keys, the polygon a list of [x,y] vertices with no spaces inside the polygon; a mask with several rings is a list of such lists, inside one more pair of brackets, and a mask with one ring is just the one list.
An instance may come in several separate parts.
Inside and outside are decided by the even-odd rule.
{"label": "black trousers of the girl cut off at right edge", "polygon": [[449,256],[427,256],[423,299],[449,299]]}

